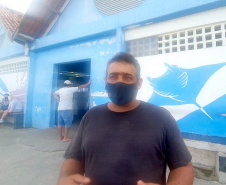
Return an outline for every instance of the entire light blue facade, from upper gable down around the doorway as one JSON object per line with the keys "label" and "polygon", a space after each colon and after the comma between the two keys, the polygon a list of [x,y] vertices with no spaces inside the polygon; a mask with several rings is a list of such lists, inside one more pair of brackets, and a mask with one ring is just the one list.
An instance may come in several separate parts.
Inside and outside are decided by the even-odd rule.
{"label": "entire light blue facade, from upper gable down around the doorway", "polygon": [[[144,0],[137,8],[105,16],[97,10],[93,0],[70,1],[49,34],[36,40],[32,46],[27,125],[35,128],[54,125],[51,114],[55,64],[89,59],[91,93],[102,93],[106,63],[114,53],[125,50],[123,30],[128,26],[154,24],[221,6],[226,6],[225,0]],[[93,95],[91,106],[108,100]],[[214,135],[220,136],[221,133],[215,132]]]}

